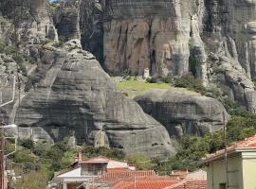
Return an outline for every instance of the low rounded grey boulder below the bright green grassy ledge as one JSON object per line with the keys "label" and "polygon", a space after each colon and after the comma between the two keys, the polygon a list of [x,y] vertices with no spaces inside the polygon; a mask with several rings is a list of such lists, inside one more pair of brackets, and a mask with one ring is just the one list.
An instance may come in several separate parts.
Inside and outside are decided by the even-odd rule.
{"label": "low rounded grey boulder below the bright green grassy ledge", "polygon": [[135,100],[171,135],[201,136],[223,127],[223,113],[228,120],[228,113],[218,100],[185,89],[151,90]]}

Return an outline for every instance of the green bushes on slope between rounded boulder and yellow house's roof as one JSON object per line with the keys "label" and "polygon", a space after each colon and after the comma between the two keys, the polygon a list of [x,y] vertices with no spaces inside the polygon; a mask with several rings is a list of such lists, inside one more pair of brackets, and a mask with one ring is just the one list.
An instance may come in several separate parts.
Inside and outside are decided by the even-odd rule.
{"label": "green bushes on slope between rounded boulder and yellow house's roof", "polygon": [[[244,140],[256,134],[256,115],[247,112],[238,105],[229,104],[229,108],[234,114],[229,119],[227,125],[228,143]],[[180,148],[177,154],[168,162],[168,168],[194,170],[202,167],[202,158],[219,149],[224,148],[223,130],[207,134],[204,137],[190,135],[182,136]],[[159,169],[161,169],[160,167]]]}

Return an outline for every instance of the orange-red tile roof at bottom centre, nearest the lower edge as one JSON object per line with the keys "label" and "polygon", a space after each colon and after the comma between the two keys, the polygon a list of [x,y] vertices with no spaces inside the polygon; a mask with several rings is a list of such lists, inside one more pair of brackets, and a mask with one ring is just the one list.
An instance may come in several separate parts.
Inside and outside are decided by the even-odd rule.
{"label": "orange-red tile roof at bottom centre, nearest the lower edge", "polygon": [[111,189],[134,189],[136,183],[137,189],[163,189],[167,186],[174,185],[177,180],[167,178],[138,178],[135,180],[121,180],[111,187]]}

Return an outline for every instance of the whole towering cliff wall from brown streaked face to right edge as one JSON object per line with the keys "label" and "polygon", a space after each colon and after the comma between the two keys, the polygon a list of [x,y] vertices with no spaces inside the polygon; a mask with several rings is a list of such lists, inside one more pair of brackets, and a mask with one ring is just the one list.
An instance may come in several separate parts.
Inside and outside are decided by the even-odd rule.
{"label": "whole towering cliff wall from brown streaked face to right edge", "polygon": [[255,1],[107,1],[104,62],[114,75],[191,74],[255,112]]}

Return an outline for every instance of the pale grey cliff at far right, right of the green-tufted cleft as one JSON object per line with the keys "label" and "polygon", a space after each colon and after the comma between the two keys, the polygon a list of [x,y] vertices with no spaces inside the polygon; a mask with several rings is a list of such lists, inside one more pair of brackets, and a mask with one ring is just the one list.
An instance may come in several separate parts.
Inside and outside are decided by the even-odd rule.
{"label": "pale grey cliff at far right, right of the green-tufted cleft", "polygon": [[231,99],[255,112],[256,1],[207,1],[209,80]]}

